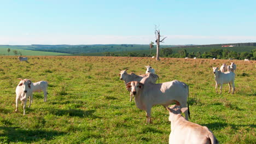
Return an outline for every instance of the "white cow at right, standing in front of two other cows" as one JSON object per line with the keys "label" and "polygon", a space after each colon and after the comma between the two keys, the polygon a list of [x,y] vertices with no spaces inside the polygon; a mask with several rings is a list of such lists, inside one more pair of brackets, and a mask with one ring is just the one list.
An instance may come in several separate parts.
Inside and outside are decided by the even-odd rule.
{"label": "white cow at right, standing in front of two other cows", "polygon": [[231,85],[232,85],[232,94],[234,94],[235,74],[231,71],[222,73],[222,71],[218,70],[218,67],[213,67],[212,69],[213,69],[213,74],[214,74],[215,82],[216,82],[216,85],[215,85],[216,93],[218,93],[218,91],[217,91],[218,85],[220,85],[220,93],[219,94],[222,94],[222,85],[228,83],[229,84],[229,93],[230,93]]}

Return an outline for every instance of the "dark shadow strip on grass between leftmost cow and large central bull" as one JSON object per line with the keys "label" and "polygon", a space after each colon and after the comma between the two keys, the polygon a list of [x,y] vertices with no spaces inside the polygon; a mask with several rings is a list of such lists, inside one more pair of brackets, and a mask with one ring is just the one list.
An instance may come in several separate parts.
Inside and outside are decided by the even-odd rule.
{"label": "dark shadow strip on grass between leftmost cow and large central bull", "polygon": [[90,117],[90,118],[102,118],[94,115],[95,110],[75,110],[75,109],[68,109],[68,110],[49,110],[49,112],[56,116],[71,116],[71,117]]}

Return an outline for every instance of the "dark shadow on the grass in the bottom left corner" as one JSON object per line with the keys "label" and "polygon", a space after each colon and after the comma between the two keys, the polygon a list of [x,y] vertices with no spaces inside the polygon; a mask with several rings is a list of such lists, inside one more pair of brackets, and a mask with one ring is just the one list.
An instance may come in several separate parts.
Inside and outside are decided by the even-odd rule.
{"label": "dark shadow on the grass in the bottom left corner", "polygon": [[0,127],[0,136],[6,137],[4,142],[37,142],[40,140],[51,140],[55,136],[64,135],[60,131],[46,130],[24,130],[19,127]]}

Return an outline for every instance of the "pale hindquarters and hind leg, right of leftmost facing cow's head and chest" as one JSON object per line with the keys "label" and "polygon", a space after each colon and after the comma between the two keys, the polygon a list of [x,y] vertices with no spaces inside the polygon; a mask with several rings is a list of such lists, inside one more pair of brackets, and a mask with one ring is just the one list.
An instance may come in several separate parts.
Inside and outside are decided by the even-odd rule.
{"label": "pale hindquarters and hind leg, right of leftmost facing cow's head and chest", "polygon": [[48,83],[46,81],[39,81],[32,83],[32,92],[44,92],[44,102],[47,100]]}

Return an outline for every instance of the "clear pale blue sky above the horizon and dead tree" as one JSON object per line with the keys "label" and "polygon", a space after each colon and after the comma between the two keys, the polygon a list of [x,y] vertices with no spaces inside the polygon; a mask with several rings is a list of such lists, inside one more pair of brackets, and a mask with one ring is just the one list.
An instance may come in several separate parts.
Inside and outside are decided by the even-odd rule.
{"label": "clear pale blue sky above the horizon and dead tree", "polygon": [[9,0],[0,4],[0,45],[256,42],[256,1]]}

